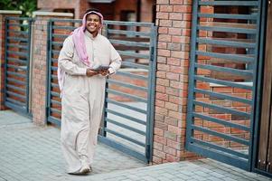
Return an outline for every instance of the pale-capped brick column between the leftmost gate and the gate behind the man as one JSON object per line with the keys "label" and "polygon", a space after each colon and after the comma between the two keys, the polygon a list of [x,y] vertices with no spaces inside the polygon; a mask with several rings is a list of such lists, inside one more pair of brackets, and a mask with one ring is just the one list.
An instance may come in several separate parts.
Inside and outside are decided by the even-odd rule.
{"label": "pale-capped brick column between the leftmost gate and the gate behind the man", "polygon": [[71,18],[73,14],[34,12],[33,24],[33,62],[32,62],[32,113],[33,122],[44,125],[46,120],[46,61],[47,24],[50,18]]}

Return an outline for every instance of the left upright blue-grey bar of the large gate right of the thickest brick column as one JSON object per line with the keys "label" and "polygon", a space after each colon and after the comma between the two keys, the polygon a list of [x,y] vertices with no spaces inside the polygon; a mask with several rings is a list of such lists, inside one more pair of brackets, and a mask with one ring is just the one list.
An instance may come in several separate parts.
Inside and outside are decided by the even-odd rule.
{"label": "left upright blue-grey bar of the large gate right of the thickest brick column", "polygon": [[192,100],[194,100],[194,92],[193,88],[195,87],[194,81],[194,74],[195,74],[195,65],[196,62],[196,54],[195,50],[197,47],[196,37],[197,37],[197,24],[198,24],[198,17],[197,12],[199,9],[198,1],[193,1],[192,7],[192,44],[191,44],[191,54],[190,54],[190,70],[189,70],[189,89],[188,89],[188,109],[187,109],[187,122],[186,122],[186,144],[185,147],[188,149],[189,144],[192,141],[192,111],[194,110],[194,106],[192,105]]}

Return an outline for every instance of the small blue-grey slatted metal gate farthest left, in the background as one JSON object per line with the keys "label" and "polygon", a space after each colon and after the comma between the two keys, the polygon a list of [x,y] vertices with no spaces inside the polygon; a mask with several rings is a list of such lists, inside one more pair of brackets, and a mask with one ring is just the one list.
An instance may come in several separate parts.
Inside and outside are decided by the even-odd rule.
{"label": "small blue-grey slatted metal gate farthest left, in the background", "polygon": [[32,18],[5,19],[5,106],[29,114]]}

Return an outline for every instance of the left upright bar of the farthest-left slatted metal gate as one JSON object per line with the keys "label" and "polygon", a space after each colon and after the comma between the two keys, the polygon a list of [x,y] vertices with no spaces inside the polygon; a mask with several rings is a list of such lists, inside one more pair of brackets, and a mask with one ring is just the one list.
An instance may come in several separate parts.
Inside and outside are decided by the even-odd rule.
{"label": "left upright bar of the farthest-left slatted metal gate", "polygon": [[[5,85],[4,85],[4,102],[6,102],[6,84],[7,84],[7,41],[8,41],[8,17],[5,18],[5,63],[4,63],[4,74],[5,74]],[[5,104],[5,103],[4,103]]]}

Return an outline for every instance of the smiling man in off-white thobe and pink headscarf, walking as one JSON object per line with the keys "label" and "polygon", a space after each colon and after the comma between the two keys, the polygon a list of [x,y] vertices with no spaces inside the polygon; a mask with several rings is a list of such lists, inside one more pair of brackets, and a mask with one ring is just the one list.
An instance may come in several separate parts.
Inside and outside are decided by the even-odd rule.
{"label": "smiling man in off-white thobe and pink headscarf, walking", "polygon": [[[88,10],[83,24],[63,43],[58,78],[61,88],[61,148],[70,174],[87,174],[94,159],[102,116],[106,76],[115,73],[121,58],[99,34],[103,16]],[[108,69],[94,71],[98,65]]]}

